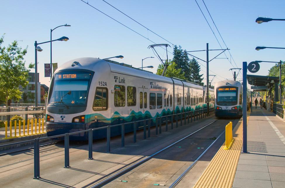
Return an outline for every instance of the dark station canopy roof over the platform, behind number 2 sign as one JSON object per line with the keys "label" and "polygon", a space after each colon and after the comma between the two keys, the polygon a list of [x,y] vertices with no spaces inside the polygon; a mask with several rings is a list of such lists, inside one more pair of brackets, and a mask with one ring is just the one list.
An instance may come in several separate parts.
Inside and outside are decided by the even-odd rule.
{"label": "dark station canopy roof over the platform, behind number 2 sign", "polygon": [[247,75],[247,81],[252,86],[272,86],[279,82],[279,77]]}

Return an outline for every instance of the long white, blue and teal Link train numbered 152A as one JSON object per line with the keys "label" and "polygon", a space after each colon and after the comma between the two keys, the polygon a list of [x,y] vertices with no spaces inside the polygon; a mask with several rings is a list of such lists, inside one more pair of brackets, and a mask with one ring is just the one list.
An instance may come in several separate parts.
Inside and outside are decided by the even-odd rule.
{"label": "long white, blue and teal Link train numbered 152A", "polygon": [[[59,135],[206,108],[206,87],[137,69],[131,65],[79,58],[53,75],[46,108],[47,135]],[[210,89],[210,107],[214,90]],[[141,126],[137,126],[139,129]],[[131,124],[125,132],[133,131]],[[111,136],[121,133],[111,128]],[[106,137],[106,129],[93,138]],[[87,133],[70,136],[86,140]]]}

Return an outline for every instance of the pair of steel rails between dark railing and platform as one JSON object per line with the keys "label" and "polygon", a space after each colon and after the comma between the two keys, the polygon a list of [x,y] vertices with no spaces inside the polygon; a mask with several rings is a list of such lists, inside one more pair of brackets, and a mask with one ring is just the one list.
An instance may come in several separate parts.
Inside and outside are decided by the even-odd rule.
{"label": "pair of steel rails between dark railing and platform", "polygon": [[[131,166],[128,166],[127,168],[121,170],[120,172],[115,173],[115,174],[111,175],[110,177],[107,177],[106,179],[102,180],[101,182],[98,182],[98,183],[94,184],[94,185],[91,186],[91,187],[92,187],[92,188],[95,188],[95,187],[102,187],[102,186],[104,186],[104,185],[106,185],[106,184],[112,182],[112,181],[115,180],[116,178],[118,178],[118,177],[120,177],[120,176],[122,176],[122,175],[124,175],[124,174],[126,174],[126,173],[128,173],[128,172],[130,172],[132,169],[134,169],[134,168],[136,168],[136,167],[138,167],[138,166],[140,166],[140,165],[146,163],[148,160],[150,160],[150,159],[153,158],[154,156],[156,156],[156,155],[158,155],[158,154],[160,154],[160,153],[166,151],[167,149],[173,147],[173,146],[176,145],[177,143],[179,143],[179,142],[181,142],[181,141],[183,141],[183,140],[185,140],[185,139],[191,137],[192,135],[194,135],[194,134],[200,132],[201,130],[207,128],[208,126],[213,125],[213,123],[216,124],[216,123],[219,122],[219,121],[220,121],[220,119],[217,119],[217,120],[215,120],[215,121],[213,121],[213,122],[211,122],[211,123],[208,123],[207,125],[203,126],[202,128],[199,128],[198,130],[194,131],[193,133],[191,133],[191,134],[189,134],[189,135],[183,137],[182,139],[180,139],[180,140],[178,140],[178,141],[176,141],[176,142],[173,142],[172,144],[168,145],[167,147],[165,147],[165,148],[163,148],[163,149],[160,149],[159,151],[157,151],[157,152],[155,152],[155,153],[149,155],[148,157],[142,159],[141,161],[138,161],[138,162],[132,164]],[[230,119],[229,119],[229,120],[227,120],[227,121],[235,121],[235,120],[230,120]],[[226,124],[225,124],[225,125],[226,125]],[[179,176],[179,178],[177,178],[177,180],[175,180],[175,182],[171,185],[172,187],[175,187],[175,185],[177,185],[177,184],[179,183],[179,181],[182,180],[182,178],[187,174],[187,172],[189,172],[189,170],[191,170],[191,168],[192,168],[192,167],[202,158],[202,156],[215,144],[215,142],[222,136],[223,133],[224,133],[224,131],[207,147],[207,149],[205,149],[205,151],[204,151],[200,156],[197,157],[197,159]]]}

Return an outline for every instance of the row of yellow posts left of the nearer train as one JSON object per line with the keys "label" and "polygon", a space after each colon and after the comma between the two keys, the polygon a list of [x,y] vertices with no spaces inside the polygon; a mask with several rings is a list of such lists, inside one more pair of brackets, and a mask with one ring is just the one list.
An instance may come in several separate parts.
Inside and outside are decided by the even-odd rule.
{"label": "row of yellow posts left of the nearer train", "polygon": [[[14,123],[14,133],[12,134],[12,125]],[[21,125],[23,125],[23,130],[21,130]],[[18,127],[18,129],[17,129]],[[42,119],[28,119],[27,129],[25,120],[18,120],[14,122],[10,121],[10,134],[8,135],[8,121],[5,121],[5,138],[23,137],[29,135],[37,135],[46,133],[44,131],[44,118]],[[18,131],[17,131],[18,130]]]}

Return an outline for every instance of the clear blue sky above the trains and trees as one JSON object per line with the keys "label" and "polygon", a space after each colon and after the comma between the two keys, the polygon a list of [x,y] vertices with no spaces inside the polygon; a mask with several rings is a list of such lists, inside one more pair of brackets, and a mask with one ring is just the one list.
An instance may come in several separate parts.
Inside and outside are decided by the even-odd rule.
{"label": "clear blue sky above the trains and trees", "polygon": [[[134,18],[142,25],[148,27],[173,44],[181,45],[187,51],[203,50],[206,43],[209,49],[219,49],[213,33],[205,18],[199,10],[195,0],[106,0],[122,12]],[[285,51],[281,49],[264,49],[256,51],[256,46],[285,47],[284,21],[271,21],[257,24],[255,19],[259,16],[270,18],[285,18],[285,1],[281,0],[204,0],[217,28],[239,68],[242,62],[254,60],[279,61],[284,60]],[[69,41],[53,42],[53,62],[60,66],[62,63],[80,57],[107,58],[123,55],[123,59],[113,59],[119,62],[141,67],[141,59],[154,56],[147,47],[153,43],[91,8],[80,0],[50,0],[50,1],[4,1],[1,0],[1,26],[0,34],[5,34],[4,46],[13,40],[19,40],[22,47],[28,46],[25,60],[34,62],[34,41],[49,41],[50,29],[65,23],[71,27],[60,27],[53,31],[53,39],[61,36],[69,37]],[[87,2],[87,0],[86,0]],[[197,0],[210,26],[214,24],[205,9],[202,0]],[[147,29],[141,27],[127,18],[102,0],[89,0],[89,4],[119,20],[128,27],[148,37],[156,43],[168,43],[155,36]],[[225,48],[216,29],[218,40]],[[50,85],[49,78],[44,78],[44,63],[50,62],[49,43],[39,45],[44,51],[38,53],[38,72],[40,82]],[[171,45],[172,46],[172,45]],[[169,49],[172,51],[172,48]],[[166,57],[165,51],[159,50]],[[219,51],[210,51],[209,58],[214,58]],[[226,53],[229,57],[229,53]],[[195,52],[193,55],[206,59],[205,52]],[[155,57],[155,56],[154,56]],[[172,54],[168,54],[169,59]],[[219,56],[224,58],[224,55]],[[205,65],[204,62],[201,64]],[[144,66],[153,65],[156,72],[160,64],[157,58],[144,60]],[[232,60],[232,64],[234,62]],[[261,63],[260,71],[256,74],[267,75],[271,63]],[[226,59],[215,59],[210,62],[210,70],[216,74],[232,79],[233,68]],[[201,66],[205,77],[205,67]],[[34,70],[31,70],[33,72]],[[215,74],[210,72],[210,74]],[[224,80],[217,76],[213,82]],[[241,78],[241,76],[238,76]],[[205,80],[204,80],[205,82]]]}

